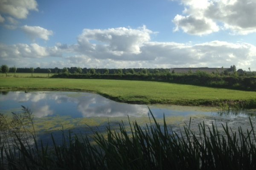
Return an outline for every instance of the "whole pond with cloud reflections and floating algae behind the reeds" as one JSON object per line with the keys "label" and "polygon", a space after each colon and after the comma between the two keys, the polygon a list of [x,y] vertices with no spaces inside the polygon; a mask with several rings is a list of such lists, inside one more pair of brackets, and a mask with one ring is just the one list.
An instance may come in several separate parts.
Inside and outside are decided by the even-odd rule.
{"label": "whole pond with cloud reflections and floating algae behind the reeds", "polygon": [[[63,129],[72,129],[75,133],[91,133],[93,129],[104,131],[111,125],[118,129],[121,120],[127,125],[128,115],[131,121],[142,125],[149,123],[149,109],[159,123],[166,122],[172,129],[180,129],[189,123],[191,129],[197,129],[198,123],[203,122],[217,127],[227,123],[231,128],[242,126],[250,128],[249,118],[256,121],[256,110],[241,110],[236,112],[222,112],[214,107],[188,107],[168,105],[136,105],[119,103],[98,94],[87,92],[1,92],[0,113],[12,116],[12,112],[19,113],[21,106],[33,111],[36,131],[45,134],[57,133]],[[152,121],[152,120],[151,120]]]}

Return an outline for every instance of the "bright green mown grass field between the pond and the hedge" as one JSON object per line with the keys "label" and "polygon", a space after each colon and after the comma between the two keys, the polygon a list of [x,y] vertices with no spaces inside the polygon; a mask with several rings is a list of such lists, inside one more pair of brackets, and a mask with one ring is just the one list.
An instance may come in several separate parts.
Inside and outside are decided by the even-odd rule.
{"label": "bright green mown grass field between the pond and the hedge", "polygon": [[256,108],[256,92],[151,81],[7,77],[0,78],[0,90],[87,91],[127,103]]}

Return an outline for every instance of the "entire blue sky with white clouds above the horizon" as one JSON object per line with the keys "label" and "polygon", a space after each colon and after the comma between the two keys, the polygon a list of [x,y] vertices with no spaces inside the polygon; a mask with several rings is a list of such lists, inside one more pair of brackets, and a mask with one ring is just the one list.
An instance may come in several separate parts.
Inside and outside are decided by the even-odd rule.
{"label": "entire blue sky with white clouds above the horizon", "polygon": [[0,65],[256,71],[256,0],[0,0]]}

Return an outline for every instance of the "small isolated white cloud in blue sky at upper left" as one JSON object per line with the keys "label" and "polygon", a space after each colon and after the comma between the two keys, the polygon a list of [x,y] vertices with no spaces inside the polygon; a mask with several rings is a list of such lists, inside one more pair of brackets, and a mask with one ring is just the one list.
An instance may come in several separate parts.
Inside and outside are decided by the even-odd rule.
{"label": "small isolated white cloud in blue sky at upper left", "polygon": [[33,40],[41,38],[43,40],[49,40],[49,36],[53,35],[51,30],[47,30],[40,26],[22,26],[21,29],[28,34]]}

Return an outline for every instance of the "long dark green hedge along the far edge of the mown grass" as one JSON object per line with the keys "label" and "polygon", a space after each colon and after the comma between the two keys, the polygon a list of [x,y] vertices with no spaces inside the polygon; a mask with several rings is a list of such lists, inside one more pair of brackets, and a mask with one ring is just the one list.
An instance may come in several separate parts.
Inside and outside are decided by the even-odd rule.
{"label": "long dark green hedge along the far edge of the mown grass", "polygon": [[226,88],[232,90],[256,91],[256,77],[246,75],[219,75],[206,72],[191,74],[54,74],[52,78],[109,79],[109,80],[140,80],[198,85],[204,87]]}

